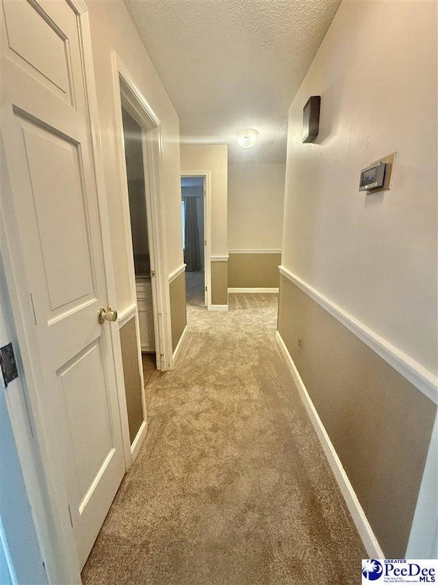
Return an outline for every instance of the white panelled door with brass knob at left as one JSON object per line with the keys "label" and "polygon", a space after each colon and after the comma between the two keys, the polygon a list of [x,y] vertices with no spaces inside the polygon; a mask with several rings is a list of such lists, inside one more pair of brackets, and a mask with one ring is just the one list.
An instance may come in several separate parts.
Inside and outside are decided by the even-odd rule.
{"label": "white panelled door with brass knob at left", "polygon": [[[1,119],[81,566],[125,473],[81,29],[65,0],[4,0]],[[23,309],[26,310],[26,309]],[[32,310],[32,309],[31,309]]]}

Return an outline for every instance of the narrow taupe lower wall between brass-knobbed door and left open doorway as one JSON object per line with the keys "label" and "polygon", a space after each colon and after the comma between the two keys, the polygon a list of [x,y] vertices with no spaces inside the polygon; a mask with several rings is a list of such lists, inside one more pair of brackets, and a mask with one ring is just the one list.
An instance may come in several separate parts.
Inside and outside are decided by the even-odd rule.
{"label": "narrow taupe lower wall between brass-knobbed door and left open doorway", "polygon": [[120,328],[120,345],[122,346],[129,438],[132,444],[143,422],[142,379],[138,366],[136,320],[134,318]]}

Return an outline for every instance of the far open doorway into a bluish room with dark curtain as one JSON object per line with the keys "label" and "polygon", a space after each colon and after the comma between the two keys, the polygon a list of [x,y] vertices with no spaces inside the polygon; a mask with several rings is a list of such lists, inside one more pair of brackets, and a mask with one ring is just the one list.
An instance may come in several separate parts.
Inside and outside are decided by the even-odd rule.
{"label": "far open doorway into a bluish room with dark curtain", "polygon": [[209,176],[181,176],[181,220],[188,305],[208,307],[209,291]]}

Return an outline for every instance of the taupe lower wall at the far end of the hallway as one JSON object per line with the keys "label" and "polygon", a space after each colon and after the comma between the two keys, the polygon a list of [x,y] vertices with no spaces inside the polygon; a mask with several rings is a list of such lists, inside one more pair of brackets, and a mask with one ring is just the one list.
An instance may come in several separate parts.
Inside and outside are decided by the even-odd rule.
{"label": "taupe lower wall at the far end of the hallway", "polygon": [[278,288],[281,254],[230,252],[228,286],[230,288]]}

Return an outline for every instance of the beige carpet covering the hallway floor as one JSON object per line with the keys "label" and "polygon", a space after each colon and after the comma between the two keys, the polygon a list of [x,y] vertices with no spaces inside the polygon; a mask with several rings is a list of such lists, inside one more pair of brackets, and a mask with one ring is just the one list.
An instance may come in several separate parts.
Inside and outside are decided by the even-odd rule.
{"label": "beige carpet covering the hallway floor", "polygon": [[85,584],[353,585],[365,550],[275,342],[278,297],[188,310]]}

